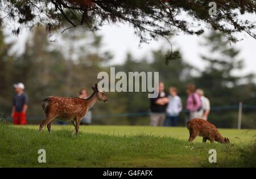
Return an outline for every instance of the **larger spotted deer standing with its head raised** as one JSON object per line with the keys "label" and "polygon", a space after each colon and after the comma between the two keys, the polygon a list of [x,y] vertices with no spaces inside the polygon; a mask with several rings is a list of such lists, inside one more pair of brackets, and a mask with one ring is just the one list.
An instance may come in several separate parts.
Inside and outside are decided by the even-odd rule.
{"label": "larger spotted deer standing with its head raised", "polygon": [[82,117],[92,108],[97,100],[108,101],[104,92],[98,91],[97,84],[92,87],[93,93],[88,99],[80,99],[79,97],[57,97],[51,96],[42,100],[43,110],[46,118],[40,123],[39,131],[47,125],[47,129],[51,134],[51,123],[54,118],[60,121],[72,121],[75,126],[73,134],[78,133],[79,125]]}

